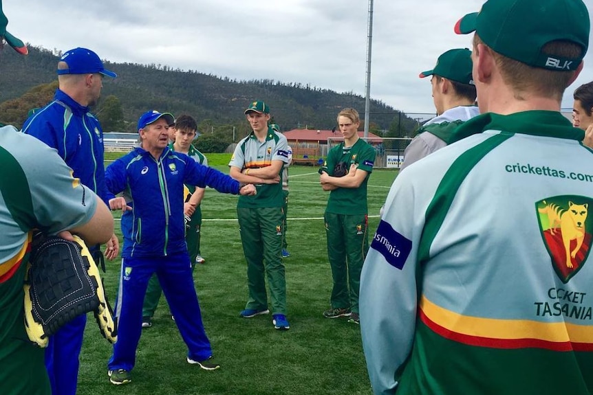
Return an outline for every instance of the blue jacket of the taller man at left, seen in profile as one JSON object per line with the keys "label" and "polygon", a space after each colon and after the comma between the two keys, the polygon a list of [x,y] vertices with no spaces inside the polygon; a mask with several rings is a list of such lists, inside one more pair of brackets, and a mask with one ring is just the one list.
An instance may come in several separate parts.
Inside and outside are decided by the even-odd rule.
{"label": "blue jacket of the taller man at left, seen in profile", "polygon": [[58,89],[54,101],[25,121],[23,133],[58,150],[58,155],[74,171],[74,177],[107,203],[103,129],[89,107],[81,106]]}

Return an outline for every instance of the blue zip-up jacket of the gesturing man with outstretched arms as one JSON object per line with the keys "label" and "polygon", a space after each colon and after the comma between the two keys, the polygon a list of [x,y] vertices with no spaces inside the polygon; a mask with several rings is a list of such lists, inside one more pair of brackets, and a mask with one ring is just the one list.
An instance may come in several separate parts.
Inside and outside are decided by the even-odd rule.
{"label": "blue zip-up jacket of the gesturing man with outstretched arms", "polygon": [[[159,159],[136,148],[107,166],[107,200],[125,192],[131,212],[122,220],[122,257],[166,256],[186,251],[183,184],[239,194],[239,181],[166,147]],[[131,216],[131,217],[130,217]],[[124,225],[126,225],[124,227]]]}

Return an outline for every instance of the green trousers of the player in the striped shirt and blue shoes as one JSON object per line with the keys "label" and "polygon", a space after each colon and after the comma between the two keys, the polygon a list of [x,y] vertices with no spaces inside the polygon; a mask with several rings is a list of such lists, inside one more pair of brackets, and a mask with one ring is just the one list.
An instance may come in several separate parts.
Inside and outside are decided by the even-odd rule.
{"label": "green trousers of the player in the striped shirt and blue shoes", "polygon": [[237,218],[247,261],[249,296],[245,308],[268,308],[267,278],[272,314],[286,315],[282,211],[282,207],[237,207]]}

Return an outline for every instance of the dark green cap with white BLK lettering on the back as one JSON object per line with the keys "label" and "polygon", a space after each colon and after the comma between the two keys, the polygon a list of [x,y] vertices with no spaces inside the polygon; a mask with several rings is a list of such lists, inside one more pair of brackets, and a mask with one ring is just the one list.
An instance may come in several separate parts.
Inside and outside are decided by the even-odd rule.
{"label": "dark green cap with white BLK lettering on the back", "polygon": [[[590,19],[581,0],[488,0],[482,10],[455,24],[455,33],[476,32],[488,47],[532,67],[576,70],[589,46]],[[550,41],[570,41],[583,48],[581,56],[544,54]]]}

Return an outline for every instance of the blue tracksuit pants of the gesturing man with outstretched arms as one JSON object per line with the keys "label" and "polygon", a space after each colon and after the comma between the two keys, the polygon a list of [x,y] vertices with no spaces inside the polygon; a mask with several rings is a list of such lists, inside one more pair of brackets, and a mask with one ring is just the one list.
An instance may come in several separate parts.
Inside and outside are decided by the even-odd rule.
{"label": "blue tracksuit pants of the gesturing man with outstretched arms", "polygon": [[210,341],[202,324],[188,253],[158,258],[123,258],[115,312],[118,341],[107,364],[109,370],[131,371],[134,367],[136,348],[142,333],[142,303],[153,273],[158,276],[171,314],[175,317],[175,324],[188,347],[188,357],[204,361],[212,355]]}

